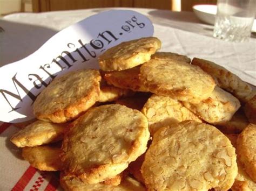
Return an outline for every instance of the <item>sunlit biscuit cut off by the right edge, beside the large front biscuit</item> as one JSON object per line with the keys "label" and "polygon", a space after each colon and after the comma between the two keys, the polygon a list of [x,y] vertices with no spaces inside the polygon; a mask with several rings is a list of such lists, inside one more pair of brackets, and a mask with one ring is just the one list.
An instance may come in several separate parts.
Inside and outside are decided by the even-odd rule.
{"label": "sunlit biscuit cut off by the right edge, beside the large front biscuit", "polygon": [[246,173],[256,182],[256,125],[250,124],[237,139],[237,155]]}

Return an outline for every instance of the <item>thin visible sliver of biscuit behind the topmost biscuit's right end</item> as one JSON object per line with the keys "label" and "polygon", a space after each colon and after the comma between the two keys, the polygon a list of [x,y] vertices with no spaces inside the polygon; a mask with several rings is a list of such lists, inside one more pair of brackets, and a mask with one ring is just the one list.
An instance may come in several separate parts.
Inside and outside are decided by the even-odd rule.
{"label": "thin visible sliver of biscuit behind the topmost biscuit's right end", "polygon": [[177,61],[183,61],[183,62],[187,62],[190,63],[191,60],[190,58],[188,58],[185,55],[180,55],[177,53],[172,53],[172,52],[156,52],[153,55],[151,55],[151,59],[163,59],[163,58],[168,58],[171,60],[177,60]]}

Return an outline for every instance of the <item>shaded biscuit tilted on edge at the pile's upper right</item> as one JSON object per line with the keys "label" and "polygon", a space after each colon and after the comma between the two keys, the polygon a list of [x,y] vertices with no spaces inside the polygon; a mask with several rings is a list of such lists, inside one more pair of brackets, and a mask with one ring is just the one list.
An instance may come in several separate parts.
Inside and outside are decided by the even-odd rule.
{"label": "shaded biscuit tilted on edge at the pile's upper right", "polygon": [[237,75],[214,62],[193,58],[191,64],[199,66],[206,73],[210,74],[217,83],[217,86],[229,91],[241,102],[246,103],[255,95],[250,84],[242,81]]}

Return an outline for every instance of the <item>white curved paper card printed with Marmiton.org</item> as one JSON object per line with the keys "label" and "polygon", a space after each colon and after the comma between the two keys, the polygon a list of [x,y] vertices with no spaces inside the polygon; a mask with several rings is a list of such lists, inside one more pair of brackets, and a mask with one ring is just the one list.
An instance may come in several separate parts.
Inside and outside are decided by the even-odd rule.
{"label": "white curved paper card printed with Marmiton.org", "polygon": [[153,32],[147,17],[130,10],[98,13],[58,32],[35,53],[0,68],[0,121],[34,118],[33,101],[57,75],[98,68],[97,57],[106,49]]}

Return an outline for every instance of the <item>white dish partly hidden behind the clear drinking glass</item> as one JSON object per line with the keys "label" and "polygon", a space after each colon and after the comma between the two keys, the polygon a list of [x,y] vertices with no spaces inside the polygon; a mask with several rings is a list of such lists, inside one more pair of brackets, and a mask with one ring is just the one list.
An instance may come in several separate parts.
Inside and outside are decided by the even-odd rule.
{"label": "white dish partly hidden behind the clear drinking glass", "polygon": [[[214,25],[215,15],[217,13],[216,5],[194,5],[193,11],[202,22]],[[252,32],[256,32],[256,19],[253,22]]]}

